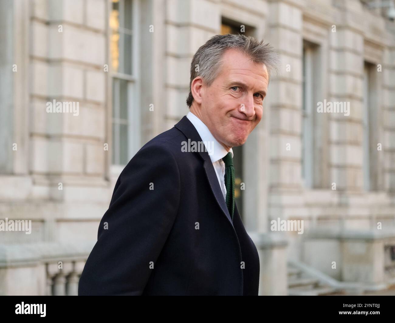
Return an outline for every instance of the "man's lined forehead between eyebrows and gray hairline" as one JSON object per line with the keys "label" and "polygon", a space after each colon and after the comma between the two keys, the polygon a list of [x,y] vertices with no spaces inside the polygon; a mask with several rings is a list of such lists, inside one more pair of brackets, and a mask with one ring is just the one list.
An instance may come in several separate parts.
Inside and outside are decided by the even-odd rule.
{"label": "man's lined forehead between eyebrows and gray hairline", "polygon": [[264,64],[254,63],[249,56],[237,49],[228,49],[222,57],[223,76],[238,75],[253,77],[268,82],[269,75]]}

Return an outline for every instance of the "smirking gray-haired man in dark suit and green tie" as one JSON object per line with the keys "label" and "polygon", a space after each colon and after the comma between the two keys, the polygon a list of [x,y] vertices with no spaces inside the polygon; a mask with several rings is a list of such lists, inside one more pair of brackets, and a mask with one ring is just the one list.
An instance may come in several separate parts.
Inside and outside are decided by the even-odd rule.
{"label": "smirking gray-haired man in dark suit and green tie", "polygon": [[276,60],[270,45],[244,35],[216,35],[199,48],[190,112],[120,174],[79,295],[258,295],[259,257],[234,202],[231,147],[261,120]]}

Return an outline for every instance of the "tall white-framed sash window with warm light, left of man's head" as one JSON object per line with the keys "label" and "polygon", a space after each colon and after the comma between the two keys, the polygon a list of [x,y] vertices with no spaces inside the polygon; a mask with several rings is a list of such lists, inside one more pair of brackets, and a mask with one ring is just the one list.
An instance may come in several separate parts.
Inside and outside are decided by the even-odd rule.
{"label": "tall white-framed sash window with warm light, left of man's head", "polygon": [[140,145],[137,1],[113,0],[110,13],[112,163],[126,165]]}

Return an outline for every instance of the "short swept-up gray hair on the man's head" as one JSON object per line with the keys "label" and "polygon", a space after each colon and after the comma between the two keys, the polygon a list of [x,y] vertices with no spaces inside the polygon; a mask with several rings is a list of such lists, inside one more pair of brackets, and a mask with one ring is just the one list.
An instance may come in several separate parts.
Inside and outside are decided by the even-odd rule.
{"label": "short swept-up gray hair on the man's head", "polygon": [[[204,45],[199,47],[191,62],[191,79],[189,82],[189,95],[186,104],[191,107],[194,97],[191,85],[194,78],[201,76],[203,82],[210,86],[218,76],[222,67],[222,57],[227,49],[239,49],[250,56],[257,64],[264,64],[270,76],[271,70],[277,70],[278,54],[274,48],[263,40],[241,34],[215,35]],[[198,71],[196,67],[198,66]]]}

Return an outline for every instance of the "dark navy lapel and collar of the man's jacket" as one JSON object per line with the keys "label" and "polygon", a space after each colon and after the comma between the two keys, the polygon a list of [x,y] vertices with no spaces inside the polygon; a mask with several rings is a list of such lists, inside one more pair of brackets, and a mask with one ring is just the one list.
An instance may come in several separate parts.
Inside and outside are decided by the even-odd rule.
{"label": "dark navy lapel and collar of the man's jacket", "polygon": [[[201,138],[199,136],[198,131],[194,127],[191,121],[189,121],[186,116],[184,116],[176,125],[174,125],[177,129],[179,129],[187,139],[190,139],[191,142],[201,142]],[[220,206],[222,213],[228,218],[229,222],[233,226],[233,222],[229,215],[228,207],[226,206],[226,202],[224,200],[224,196],[222,195],[222,190],[218,183],[217,176],[215,174],[213,163],[211,162],[209,153],[207,151],[198,151],[197,152],[200,157],[203,159],[203,168],[206,172],[207,179],[210,183],[211,190],[214,193],[215,199]]]}

